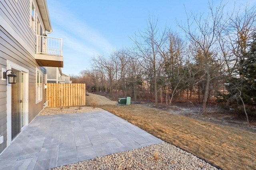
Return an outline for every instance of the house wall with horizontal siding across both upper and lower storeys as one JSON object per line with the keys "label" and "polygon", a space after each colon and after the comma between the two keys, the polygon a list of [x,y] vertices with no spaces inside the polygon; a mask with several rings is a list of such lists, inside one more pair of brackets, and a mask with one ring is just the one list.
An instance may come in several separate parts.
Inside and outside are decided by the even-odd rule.
{"label": "house wall with horizontal siding across both upper and lower storeys", "polygon": [[[34,2],[34,0],[32,0]],[[15,63],[28,70],[28,123],[43,109],[42,101],[36,104],[36,70],[42,72],[43,84],[46,82],[46,69],[39,66],[34,58],[36,52],[37,20],[45,32],[38,6],[36,8],[35,27],[30,26],[31,0],[0,1],[0,135],[4,143],[0,144],[0,153],[8,146],[7,142],[7,85],[2,80],[2,69],[8,69],[7,63]]]}

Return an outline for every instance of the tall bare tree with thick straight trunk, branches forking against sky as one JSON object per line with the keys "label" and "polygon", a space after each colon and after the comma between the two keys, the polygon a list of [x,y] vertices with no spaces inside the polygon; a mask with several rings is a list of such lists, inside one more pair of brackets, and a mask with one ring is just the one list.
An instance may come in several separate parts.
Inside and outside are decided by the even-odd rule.
{"label": "tall bare tree with thick straight trunk, branches forking against sky", "polygon": [[[186,26],[179,24],[179,26],[184,30],[188,39],[194,45],[196,50],[200,50],[203,55],[203,63],[200,68],[204,70],[204,75],[202,78],[206,80],[204,88],[204,98],[203,98],[203,114],[207,115],[207,101],[209,97],[210,90],[210,80],[211,80],[211,69],[210,64],[212,60],[209,56],[210,53],[215,51],[217,42],[217,31],[222,25],[223,18],[223,8],[224,5],[220,4],[214,10],[213,5],[209,3],[209,13],[206,18],[202,15],[199,17],[191,13],[187,14]],[[189,17],[190,16],[190,17]]]}

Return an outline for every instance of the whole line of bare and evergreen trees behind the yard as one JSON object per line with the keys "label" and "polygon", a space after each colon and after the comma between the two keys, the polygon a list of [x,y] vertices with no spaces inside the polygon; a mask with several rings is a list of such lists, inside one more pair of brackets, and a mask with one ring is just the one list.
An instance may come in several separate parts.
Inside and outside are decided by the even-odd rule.
{"label": "whole line of bare and evergreen trees behind the yard", "polygon": [[132,47],[95,56],[80,74],[91,90],[110,96],[166,105],[184,98],[202,104],[204,114],[209,103],[222,102],[246,112],[256,103],[256,8],[224,8],[209,3],[207,16],[186,12],[186,22],[177,21],[182,33],[159,29],[149,17]]}

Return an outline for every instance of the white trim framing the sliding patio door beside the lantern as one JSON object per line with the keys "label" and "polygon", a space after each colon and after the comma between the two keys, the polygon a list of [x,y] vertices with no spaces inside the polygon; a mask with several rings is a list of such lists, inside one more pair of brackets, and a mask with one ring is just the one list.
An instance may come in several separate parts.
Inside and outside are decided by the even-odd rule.
{"label": "white trim framing the sliding patio door beside the lantern", "polygon": [[[19,70],[24,73],[24,87],[25,87],[25,92],[24,92],[24,115],[25,115],[25,125],[28,125],[28,72],[29,70],[15,64],[9,60],[7,60],[7,68],[6,70],[11,70],[12,68]],[[12,117],[12,106],[11,106],[11,84],[7,84],[7,147],[12,143],[12,125],[11,125],[11,117]]]}

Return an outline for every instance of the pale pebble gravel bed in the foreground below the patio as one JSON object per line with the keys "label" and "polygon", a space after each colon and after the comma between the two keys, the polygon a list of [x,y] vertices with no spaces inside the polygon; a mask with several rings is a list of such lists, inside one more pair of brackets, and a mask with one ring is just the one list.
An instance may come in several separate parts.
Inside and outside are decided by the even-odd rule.
{"label": "pale pebble gravel bed in the foreground below the patio", "polygon": [[217,170],[191,153],[160,143],[100,156],[52,170]]}

